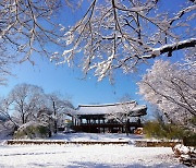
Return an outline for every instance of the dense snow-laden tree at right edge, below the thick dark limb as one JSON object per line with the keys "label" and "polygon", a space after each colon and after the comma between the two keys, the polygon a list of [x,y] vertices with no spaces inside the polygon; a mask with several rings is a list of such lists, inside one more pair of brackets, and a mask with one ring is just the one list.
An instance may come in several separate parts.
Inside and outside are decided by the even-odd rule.
{"label": "dense snow-laden tree at right edge, below the thick dark limb", "polygon": [[157,60],[138,83],[139,94],[179,123],[196,116],[196,67],[191,62]]}

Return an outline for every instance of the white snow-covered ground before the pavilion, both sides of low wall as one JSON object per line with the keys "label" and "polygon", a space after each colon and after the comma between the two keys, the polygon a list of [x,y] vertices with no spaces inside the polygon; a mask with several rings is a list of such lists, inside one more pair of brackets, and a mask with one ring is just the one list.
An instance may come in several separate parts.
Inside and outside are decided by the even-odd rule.
{"label": "white snow-covered ground before the pavilion, both sides of low wall", "polygon": [[[58,134],[65,141],[134,141],[140,136],[124,134]],[[185,167],[170,147],[135,147],[130,145],[0,145],[0,167]]]}

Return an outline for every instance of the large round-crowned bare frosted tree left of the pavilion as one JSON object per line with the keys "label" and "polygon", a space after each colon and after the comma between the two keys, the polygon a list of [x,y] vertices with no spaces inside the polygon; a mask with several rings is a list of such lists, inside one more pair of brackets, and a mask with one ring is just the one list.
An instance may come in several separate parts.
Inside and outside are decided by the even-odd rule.
{"label": "large round-crowned bare frosted tree left of the pavilion", "polygon": [[41,87],[30,84],[16,85],[9,94],[9,112],[19,124],[36,120],[36,115],[44,104]]}

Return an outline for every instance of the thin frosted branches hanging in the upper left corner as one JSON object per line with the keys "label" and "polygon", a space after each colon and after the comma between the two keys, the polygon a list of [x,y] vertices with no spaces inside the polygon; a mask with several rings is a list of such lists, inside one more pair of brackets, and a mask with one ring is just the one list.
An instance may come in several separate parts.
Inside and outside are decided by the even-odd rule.
{"label": "thin frosted branches hanging in the upper left corner", "polygon": [[11,64],[30,61],[32,53],[51,56],[51,47],[62,46],[57,11],[61,0],[0,1],[0,84],[5,83]]}

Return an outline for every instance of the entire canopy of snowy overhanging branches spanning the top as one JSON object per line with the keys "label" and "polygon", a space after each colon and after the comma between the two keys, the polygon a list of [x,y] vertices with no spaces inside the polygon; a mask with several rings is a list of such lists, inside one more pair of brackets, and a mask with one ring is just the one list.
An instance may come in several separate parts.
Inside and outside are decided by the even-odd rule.
{"label": "entire canopy of snowy overhanging branches spanning the top", "polygon": [[[85,74],[93,71],[102,80],[112,76],[114,70],[133,72],[149,59],[195,48],[195,0],[177,1],[179,7],[173,9],[164,7],[173,2],[162,0],[65,0],[66,5],[63,2],[0,2],[0,84],[5,83],[11,63],[34,63],[30,57],[35,52],[58,64],[79,65]],[[61,14],[58,10],[73,7],[72,2],[85,7],[85,14],[75,25],[57,23]],[[75,14],[81,13],[75,10]],[[53,52],[53,47],[48,46],[62,47],[64,51]]]}

